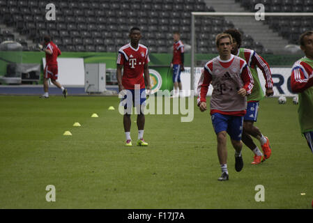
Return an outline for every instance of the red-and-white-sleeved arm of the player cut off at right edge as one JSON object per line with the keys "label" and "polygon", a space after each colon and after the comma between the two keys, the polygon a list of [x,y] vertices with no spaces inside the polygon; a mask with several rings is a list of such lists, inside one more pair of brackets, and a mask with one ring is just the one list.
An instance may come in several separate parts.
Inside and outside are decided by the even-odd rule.
{"label": "red-and-white-sleeved arm of the player cut off at right edge", "polygon": [[291,71],[291,90],[300,93],[313,86],[313,74],[305,77],[303,67],[297,66]]}

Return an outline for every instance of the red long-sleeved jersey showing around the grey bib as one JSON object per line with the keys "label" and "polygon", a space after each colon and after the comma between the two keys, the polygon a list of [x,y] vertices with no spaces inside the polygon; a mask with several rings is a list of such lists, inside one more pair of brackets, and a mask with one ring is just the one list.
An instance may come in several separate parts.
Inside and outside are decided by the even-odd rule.
{"label": "red long-sleeved jersey showing around the grey bib", "polygon": [[[229,68],[231,66],[231,63],[234,61],[234,56],[231,55],[231,58],[228,61],[222,61],[220,59],[220,56],[218,56],[219,63],[224,68]],[[204,66],[204,72],[202,72],[202,75],[199,79],[198,84],[198,105],[200,105],[201,102],[206,102],[206,94],[208,93],[208,86],[211,84],[212,81],[212,72],[213,72],[213,60],[208,61],[206,65]],[[247,95],[249,95],[253,88],[253,77],[251,75],[251,72],[249,68],[247,67],[247,63],[241,59],[240,61],[240,73],[241,73],[241,79],[243,80],[243,89],[247,91]],[[232,116],[244,116],[246,113],[246,110],[243,111],[236,111],[236,112],[224,112],[219,110],[211,110],[211,114],[214,113],[220,113],[220,114],[226,114],[226,115],[232,115]]]}

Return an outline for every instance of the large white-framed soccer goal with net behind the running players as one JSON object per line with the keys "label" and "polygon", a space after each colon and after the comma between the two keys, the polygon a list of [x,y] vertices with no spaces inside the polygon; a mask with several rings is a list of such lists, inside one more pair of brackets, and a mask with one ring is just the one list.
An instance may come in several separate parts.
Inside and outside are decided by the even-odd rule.
{"label": "large white-framed soccer goal with net behind the running players", "polygon": [[[301,33],[313,30],[312,20],[313,13],[192,12],[190,89],[198,95],[201,69],[207,61],[218,55],[215,45],[217,33],[238,29],[242,33],[241,47],[253,49],[268,62],[274,82],[274,96],[295,95],[290,89],[291,67],[304,56],[298,38]],[[247,29],[248,26],[252,28]],[[263,74],[259,69],[258,72],[265,91]],[[208,95],[211,95],[212,90],[210,86]]]}

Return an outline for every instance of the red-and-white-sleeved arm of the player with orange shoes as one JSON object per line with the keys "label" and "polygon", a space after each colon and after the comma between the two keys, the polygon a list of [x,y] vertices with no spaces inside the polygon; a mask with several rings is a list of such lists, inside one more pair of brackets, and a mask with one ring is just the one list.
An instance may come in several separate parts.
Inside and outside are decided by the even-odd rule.
{"label": "red-and-white-sleeved arm of the player with orange shoes", "polygon": [[270,72],[270,66],[268,66],[268,63],[257,53],[254,53],[252,57],[252,63],[255,63],[260,70],[263,72],[263,77],[265,79],[265,88],[266,88],[266,96],[271,96],[274,94],[273,91],[273,79],[272,79],[272,73]]}

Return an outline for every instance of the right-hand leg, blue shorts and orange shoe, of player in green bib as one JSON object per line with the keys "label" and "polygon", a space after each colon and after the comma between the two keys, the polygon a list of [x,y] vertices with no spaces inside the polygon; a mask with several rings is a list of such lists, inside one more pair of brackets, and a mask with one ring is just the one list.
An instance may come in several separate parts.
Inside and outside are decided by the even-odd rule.
{"label": "right-hand leg, blue shorts and orange shoe, of player in green bib", "polygon": [[[268,159],[271,154],[270,142],[267,137],[261,133],[259,128],[254,126],[254,122],[257,121],[257,115],[259,112],[259,102],[249,102],[247,103],[247,113],[244,117],[243,130],[246,134],[250,134],[252,137],[258,139],[261,144],[261,148],[264,152],[264,159]],[[250,148],[250,147],[249,147]],[[252,151],[256,150],[256,147],[250,148]],[[259,154],[259,152],[257,152]],[[254,155],[257,155],[254,153]]]}

